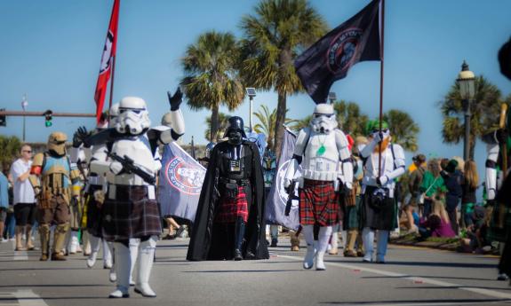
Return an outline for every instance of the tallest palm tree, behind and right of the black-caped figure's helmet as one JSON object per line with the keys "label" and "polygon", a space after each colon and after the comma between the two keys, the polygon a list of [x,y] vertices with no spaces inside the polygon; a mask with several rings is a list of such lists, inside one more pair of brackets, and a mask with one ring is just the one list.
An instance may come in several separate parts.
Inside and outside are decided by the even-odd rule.
{"label": "tallest palm tree, behind and right of the black-caped figure's helmet", "polygon": [[241,22],[244,30],[241,73],[245,84],[276,90],[274,144],[280,147],[287,96],[303,90],[293,61],[307,45],[326,33],[327,26],[307,0],[262,0],[254,11],[254,15],[245,15]]}

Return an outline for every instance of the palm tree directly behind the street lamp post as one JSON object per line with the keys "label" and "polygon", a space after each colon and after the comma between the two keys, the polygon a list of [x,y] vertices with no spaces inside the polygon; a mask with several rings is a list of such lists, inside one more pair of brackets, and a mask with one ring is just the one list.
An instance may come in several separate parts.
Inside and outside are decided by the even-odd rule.
{"label": "palm tree directly behind the street lamp post", "polygon": [[[475,97],[470,103],[469,158],[474,159],[477,137],[499,127],[500,105],[503,103],[500,90],[483,76],[475,78]],[[443,115],[443,142],[458,144],[465,138],[464,107],[457,82],[445,98],[438,103]]]}

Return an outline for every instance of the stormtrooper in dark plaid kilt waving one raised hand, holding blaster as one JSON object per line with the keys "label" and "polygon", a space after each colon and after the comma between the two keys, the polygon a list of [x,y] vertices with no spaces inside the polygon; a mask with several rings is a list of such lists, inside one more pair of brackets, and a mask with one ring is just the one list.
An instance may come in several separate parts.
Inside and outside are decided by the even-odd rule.
{"label": "stormtrooper in dark plaid kilt waving one raised hand, holding blaster", "polygon": [[154,159],[158,143],[168,144],[184,134],[180,111],[182,93],[171,96],[168,114],[170,129],[149,129],[146,102],[126,97],[119,103],[115,129],[96,137],[94,142],[111,143],[108,160],[92,161],[91,171],[106,177],[108,189],[102,205],[103,239],[114,241],[116,249],[116,291],[109,297],[129,297],[133,255],[138,249],[135,292],[156,297],[148,284],[153,266],[156,240],[161,233],[161,220],[156,203],[156,174],[161,163]]}

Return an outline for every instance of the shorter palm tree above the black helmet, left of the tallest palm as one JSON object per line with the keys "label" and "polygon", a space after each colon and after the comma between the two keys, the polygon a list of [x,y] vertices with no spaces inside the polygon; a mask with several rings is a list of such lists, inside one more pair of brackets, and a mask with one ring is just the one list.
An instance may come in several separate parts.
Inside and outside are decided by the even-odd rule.
{"label": "shorter palm tree above the black helmet, left of the tallest palm", "polygon": [[219,129],[220,105],[234,111],[244,100],[244,86],[236,69],[239,46],[230,33],[206,32],[189,45],[181,59],[186,76],[181,85],[193,110],[212,111],[210,139]]}

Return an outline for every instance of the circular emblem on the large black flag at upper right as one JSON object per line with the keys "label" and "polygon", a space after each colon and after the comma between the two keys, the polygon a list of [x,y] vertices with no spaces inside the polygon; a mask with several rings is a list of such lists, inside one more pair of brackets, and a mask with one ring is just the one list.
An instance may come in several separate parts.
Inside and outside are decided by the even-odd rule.
{"label": "circular emblem on the large black flag at upper right", "polygon": [[345,72],[351,67],[362,34],[363,31],[360,28],[350,27],[331,40],[330,48],[326,53],[326,66],[332,74]]}

